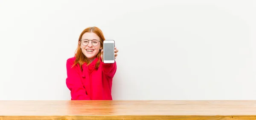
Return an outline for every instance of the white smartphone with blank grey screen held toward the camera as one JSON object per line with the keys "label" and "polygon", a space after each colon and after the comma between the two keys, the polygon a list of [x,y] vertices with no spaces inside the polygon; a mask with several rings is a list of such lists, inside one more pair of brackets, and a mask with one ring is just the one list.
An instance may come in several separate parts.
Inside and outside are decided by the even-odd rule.
{"label": "white smartphone with blank grey screen held toward the camera", "polygon": [[115,63],[115,41],[103,41],[103,63]]}

